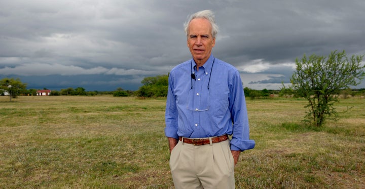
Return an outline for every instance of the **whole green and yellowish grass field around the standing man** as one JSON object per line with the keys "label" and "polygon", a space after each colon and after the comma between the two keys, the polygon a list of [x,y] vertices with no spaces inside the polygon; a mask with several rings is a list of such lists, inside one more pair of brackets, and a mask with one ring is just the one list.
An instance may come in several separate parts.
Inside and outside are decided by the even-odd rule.
{"label": "whole green and yellowish grass field around the standing man", "polygon": [[[173,188],[166,99],[0,97],[0,188]],[[306,101],[247,100],[253,150],[237,188],[365,188],[365,99],[301,126]]]}

